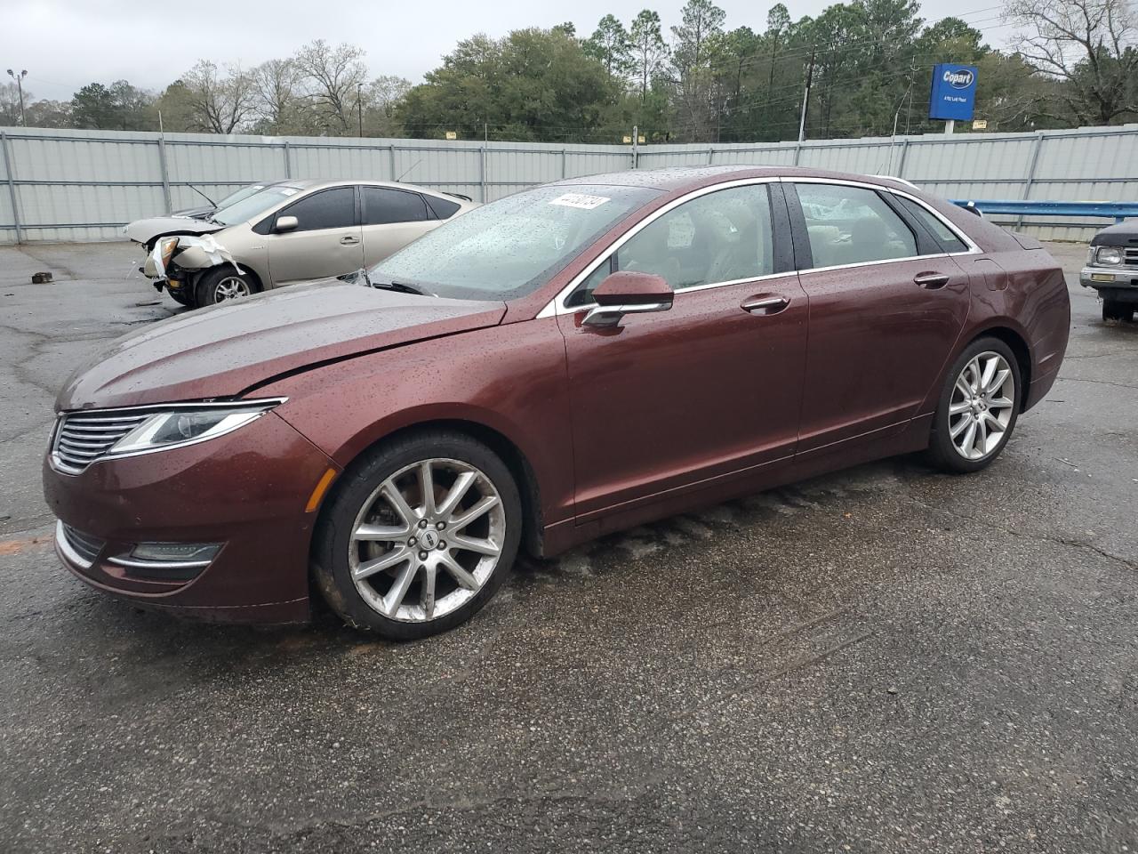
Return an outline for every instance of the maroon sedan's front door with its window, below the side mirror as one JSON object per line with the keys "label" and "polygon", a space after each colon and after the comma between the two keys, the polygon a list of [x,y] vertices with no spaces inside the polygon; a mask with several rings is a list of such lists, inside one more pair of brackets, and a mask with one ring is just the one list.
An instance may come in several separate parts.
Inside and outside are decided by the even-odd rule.
{"label": "maroon sedan's front door with its window, below the side mirror", "polygon": [[[793,455],[808,310],[797,274],[775,270],[772,232],[766,184],[709,192],[652,220],[568,298],[578,522]],[[662,276],[673,307],[583,326],[616,270]]]}

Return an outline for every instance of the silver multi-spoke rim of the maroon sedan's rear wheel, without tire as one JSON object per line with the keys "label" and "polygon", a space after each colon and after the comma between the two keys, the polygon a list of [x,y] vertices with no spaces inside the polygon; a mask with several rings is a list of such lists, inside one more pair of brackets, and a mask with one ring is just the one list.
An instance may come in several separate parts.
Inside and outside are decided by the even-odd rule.
{"label": "silver multi-spoke rim of the maroon sedan's rear wheel, without tire", "polygon": [[956,378],[948,402],[948,435],[966,460],[982,460],[1003,443],[1015,412],[1012,366],[991,351],[974,356]]}

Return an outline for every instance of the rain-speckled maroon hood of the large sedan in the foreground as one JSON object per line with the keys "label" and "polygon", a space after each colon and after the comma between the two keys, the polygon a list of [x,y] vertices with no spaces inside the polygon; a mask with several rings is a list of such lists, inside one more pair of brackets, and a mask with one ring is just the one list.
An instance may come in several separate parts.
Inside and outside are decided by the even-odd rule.
{"label": "rain-speckled maroon hood of the large sedan in the foreground", "polygon": [[64,384],[58,410],[240,395],[281,373],[496,326],[505,304],[440,299],[336,280],[295,285],[159,321]]}

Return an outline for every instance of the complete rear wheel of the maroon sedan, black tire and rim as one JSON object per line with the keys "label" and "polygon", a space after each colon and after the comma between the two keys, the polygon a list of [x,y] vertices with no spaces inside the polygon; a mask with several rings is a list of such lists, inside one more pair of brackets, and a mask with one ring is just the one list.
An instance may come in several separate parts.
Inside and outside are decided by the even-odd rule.
{"label": "complete rear wheel of the maroon sedan, black tire and rim", "polygon": [[[988,388],[979,393],[978,368],[979,379],[991,370]],[[966,474],[987,468],[999,457],[1020,417],[1021,377],[1015,353],[999,338],[978,338],[964,348],[948,370],[933,416],[929,457],[935,467]]]}

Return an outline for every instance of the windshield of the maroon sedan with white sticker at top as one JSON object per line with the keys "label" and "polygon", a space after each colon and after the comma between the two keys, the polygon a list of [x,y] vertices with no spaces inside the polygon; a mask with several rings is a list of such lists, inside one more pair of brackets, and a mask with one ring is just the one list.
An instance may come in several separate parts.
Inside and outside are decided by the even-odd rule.
{"label": "windshield of the maroon sedan with white sticker at top", "polygon": [[660,195],[643,187],[523,190],[456,216],[368,271],[459,299],[513,299],[542,287],[618,221]]}

